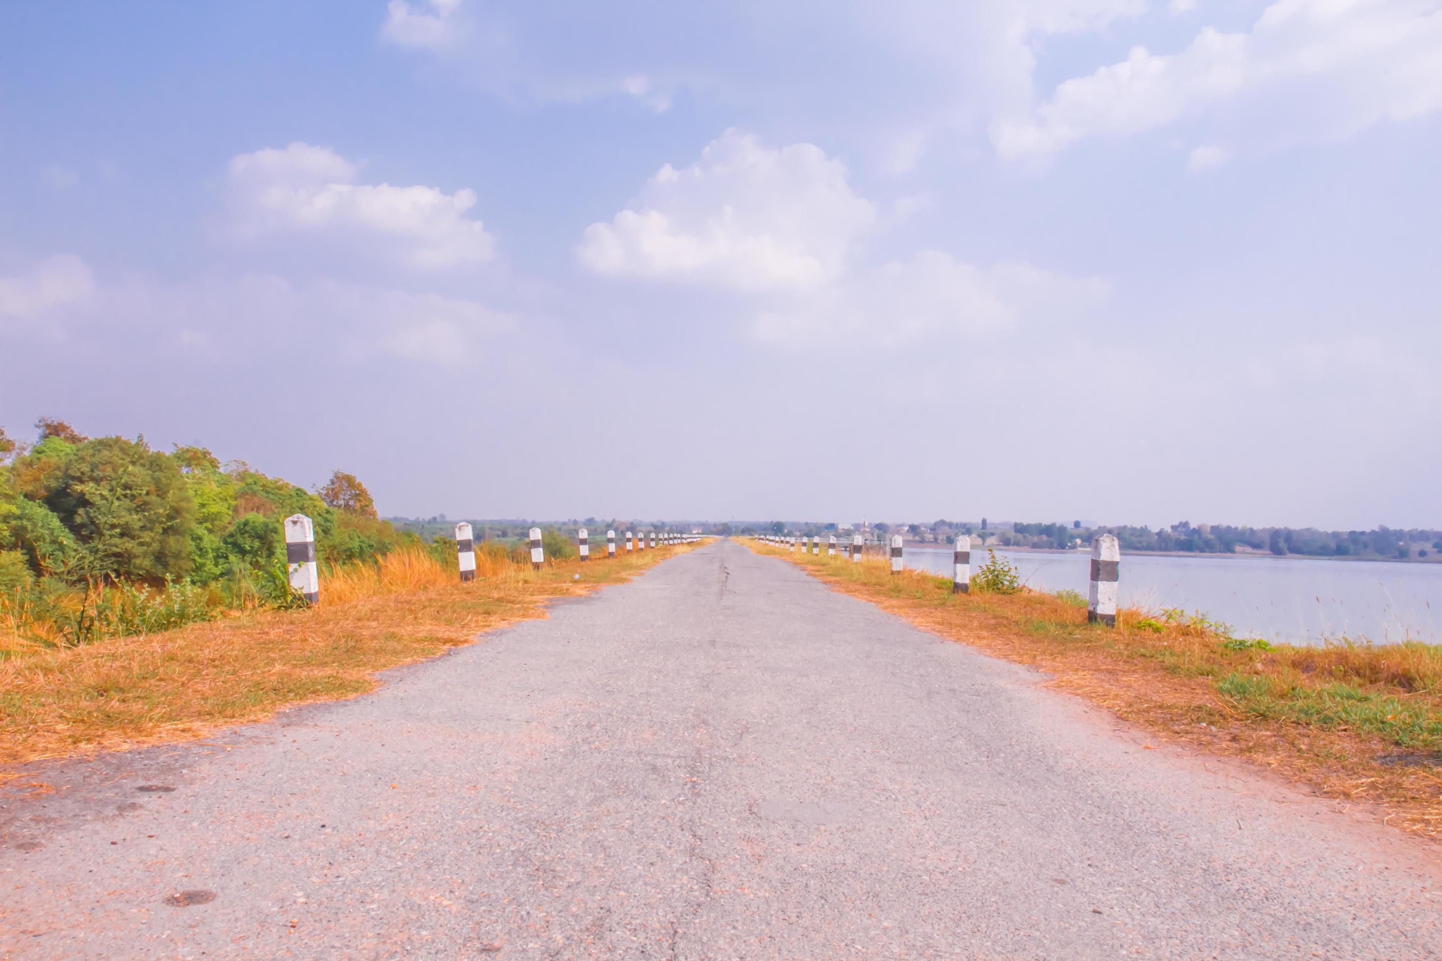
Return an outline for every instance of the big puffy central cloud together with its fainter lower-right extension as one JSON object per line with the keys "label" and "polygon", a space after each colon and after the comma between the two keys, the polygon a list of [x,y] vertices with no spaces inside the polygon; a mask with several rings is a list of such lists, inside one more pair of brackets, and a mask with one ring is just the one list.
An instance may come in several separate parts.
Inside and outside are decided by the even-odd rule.
{"label": "big puffy central cloud together with its fainter lower-right extension", "polygon": [[[900,197],[891,219],[923,209]],[[1089,310],[1107,290],[1027,264],[976,267],[920,251],[868,268],[885,231],[841,161],[812,144],[771,148],[728,130],[701,160],[652,177],[578,248],[597,274],[727,288],[744,298],[747,333],[777,346],[895,347],[1004,330]]]}

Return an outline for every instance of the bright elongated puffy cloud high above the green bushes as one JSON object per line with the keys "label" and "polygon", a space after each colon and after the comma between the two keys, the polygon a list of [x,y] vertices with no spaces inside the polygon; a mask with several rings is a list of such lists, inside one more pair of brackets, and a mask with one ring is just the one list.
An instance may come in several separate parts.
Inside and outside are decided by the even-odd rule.
{"label": "bright elongated puffy cloud high above the green bushes", "polygon": [[469,189],[356,183],[355,164],[326,147],[294,143],[231,160],[226,202],[236,236],[323,236],[412,269],[483,264],[496,239],[466,212]]}

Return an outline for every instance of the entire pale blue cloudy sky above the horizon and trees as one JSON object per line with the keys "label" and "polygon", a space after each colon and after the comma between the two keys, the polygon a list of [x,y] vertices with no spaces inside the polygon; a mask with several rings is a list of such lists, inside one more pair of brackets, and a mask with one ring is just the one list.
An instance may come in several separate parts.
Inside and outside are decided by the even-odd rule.
{"label": "entire pale blue cloudy sky above the horizon and trees", "polygon": [[1442,0],[0,20],[12,435],[394,514],[1442,526]]}

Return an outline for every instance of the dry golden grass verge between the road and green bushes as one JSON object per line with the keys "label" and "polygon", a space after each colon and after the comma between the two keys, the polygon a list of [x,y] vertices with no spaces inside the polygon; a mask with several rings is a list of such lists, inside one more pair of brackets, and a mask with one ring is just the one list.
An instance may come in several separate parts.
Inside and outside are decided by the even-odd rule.
{"label": "dry golden grass verge between the road and green bushes", "polygon": [[[399,550],[322,581],[322,602],[258,611],[78,647],[33,645],[0,660],[4,766],[91,751],[185,741],[278,709],[363,694],[375,673],[545,617],[545,601],[632,579],[698,545],[532,571],[477,552],[476,581],[454,563]],[[593,547],[594,550],[594,547]]]}

